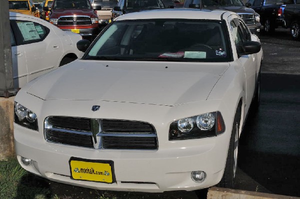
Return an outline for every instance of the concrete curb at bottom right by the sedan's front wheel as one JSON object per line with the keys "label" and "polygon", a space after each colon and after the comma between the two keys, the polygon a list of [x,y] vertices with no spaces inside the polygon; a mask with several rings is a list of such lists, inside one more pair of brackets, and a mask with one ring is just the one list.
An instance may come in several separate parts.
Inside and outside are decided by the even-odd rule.
{"label": "concrete curb at bottom right by the sedan's front wheel", "polygon": [[211,187],[207,199],[300,199],[297,197]]}

